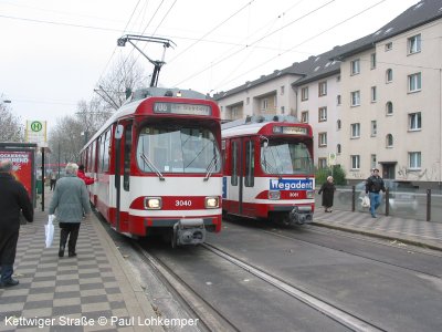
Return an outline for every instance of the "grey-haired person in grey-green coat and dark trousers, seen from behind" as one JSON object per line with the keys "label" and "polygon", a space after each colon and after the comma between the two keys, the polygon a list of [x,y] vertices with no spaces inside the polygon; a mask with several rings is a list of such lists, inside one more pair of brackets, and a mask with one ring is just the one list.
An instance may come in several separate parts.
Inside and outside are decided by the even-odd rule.
{"label": "grey-haired person in grey-green coat and dark trousers, seen from behind", "polygon": [[56,181],[54,195],[49,207],[49,214],[56,216],[60,225],[59,257],[64,256],[69,238],[69,257],[75,257],[76,240],[83,215],[91,212],[85,183],[77,177],[78,165],[69,163],[66,176]]}

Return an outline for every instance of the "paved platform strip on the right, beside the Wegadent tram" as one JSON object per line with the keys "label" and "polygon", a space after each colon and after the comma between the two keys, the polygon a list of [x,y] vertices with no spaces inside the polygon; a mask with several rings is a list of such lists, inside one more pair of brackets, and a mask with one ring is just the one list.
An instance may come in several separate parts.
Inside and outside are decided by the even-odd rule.
{"label": "paved platform strip on the right, beside the Wegadent tram", "polygon": [[343,210],[326,214],[323,208],[317,207],[312,224],[442,250],[442,222],[382,215],[371,218],[368,212]]}

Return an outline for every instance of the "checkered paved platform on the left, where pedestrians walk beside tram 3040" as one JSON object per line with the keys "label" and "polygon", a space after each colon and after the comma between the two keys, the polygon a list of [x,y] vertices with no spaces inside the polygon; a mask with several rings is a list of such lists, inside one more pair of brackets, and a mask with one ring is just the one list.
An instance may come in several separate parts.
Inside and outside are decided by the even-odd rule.
{"label": "checkered paved platform on the left, where pedestrians walk beside tram 3040", "polygon": [[38,203],[34,222],[20,228],[20,284],[0,289],[0,331],[164,331],[150,323],[151,304],[94,215],[80,228],[77,257],[59,258],[56,222],[53,246],[44,248],[51,197],[45,188],[45,211]]}

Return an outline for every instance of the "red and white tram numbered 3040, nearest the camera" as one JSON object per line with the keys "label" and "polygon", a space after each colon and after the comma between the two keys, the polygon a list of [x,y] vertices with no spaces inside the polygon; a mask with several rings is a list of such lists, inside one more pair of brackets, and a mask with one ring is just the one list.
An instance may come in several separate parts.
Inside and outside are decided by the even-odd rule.
{"label": "red and white tram numbered 3040, nearest the camera", "polygon": [[221,230],[221,124],[203,94],[134,94],[81,152],[96,209],[122,234],[170,234],[172,246]]}

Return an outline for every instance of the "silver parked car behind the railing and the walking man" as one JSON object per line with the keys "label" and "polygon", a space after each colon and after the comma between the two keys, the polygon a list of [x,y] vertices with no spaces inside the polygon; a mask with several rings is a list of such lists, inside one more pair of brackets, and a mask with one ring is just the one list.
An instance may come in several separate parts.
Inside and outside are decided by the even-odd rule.
{"label": "silver parked car behind the railing and the walking man", "polygon": [[[389,204],[390,204],[390,212],[413,212],[418,211],[418,200],[415,198],[415,191],[418,187],[413,186],[411,181],[404,180],[394,180],[394,179],[383,179],[386,188],[389,189]],[[357,209],[359,211],[366,211],[369,208],[364,208],[361,203],[364,196],[366,196],[366,181],[361,181],[355,186],[356,197],[358,200],[356,201]],[[381,194],[381,205],[379,207],[379,211],[382,214],[386,212],[386,195]]]}

